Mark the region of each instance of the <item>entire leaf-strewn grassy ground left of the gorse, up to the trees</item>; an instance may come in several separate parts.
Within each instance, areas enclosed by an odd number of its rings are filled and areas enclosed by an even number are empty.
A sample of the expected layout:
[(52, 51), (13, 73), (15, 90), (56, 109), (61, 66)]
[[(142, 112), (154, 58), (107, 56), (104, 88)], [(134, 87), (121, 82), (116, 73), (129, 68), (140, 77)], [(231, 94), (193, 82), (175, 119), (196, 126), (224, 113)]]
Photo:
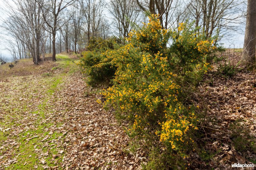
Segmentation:
[(0, 169), (138, 169), (129, 138), (77, 58), (0, 66)]

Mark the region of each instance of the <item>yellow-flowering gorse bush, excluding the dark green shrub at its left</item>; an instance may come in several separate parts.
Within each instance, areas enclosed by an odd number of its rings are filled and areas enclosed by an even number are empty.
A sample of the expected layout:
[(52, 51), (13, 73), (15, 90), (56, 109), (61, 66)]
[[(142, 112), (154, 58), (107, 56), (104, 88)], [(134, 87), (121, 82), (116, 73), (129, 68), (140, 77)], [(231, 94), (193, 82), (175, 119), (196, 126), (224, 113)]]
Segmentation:
[(210, 69), (207, 56), (215, 47), (185, 23), (177, 31), (163, 29), (157, 17), (149, 16), (125, 46), (102, 52), (91, 67), (116, 68), (112, 86), (102, 92), (103, 105), (132, 122), (130, 134), (154, 134), (169, 151), (181, 153), (197, 129), (195, 109), (182, 98), (183, 82), (198, 81)]

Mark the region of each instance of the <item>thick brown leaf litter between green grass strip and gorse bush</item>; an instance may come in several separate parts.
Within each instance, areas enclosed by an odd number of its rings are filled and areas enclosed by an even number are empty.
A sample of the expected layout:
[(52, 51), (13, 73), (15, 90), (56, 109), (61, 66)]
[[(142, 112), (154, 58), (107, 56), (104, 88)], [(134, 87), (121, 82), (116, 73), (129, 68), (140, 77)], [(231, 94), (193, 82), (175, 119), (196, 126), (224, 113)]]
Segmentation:
[(67, 108), (64, 127), (69, 132), (64, 140), (67, 151), (63, 167), (89, 169), (138, 169), (140, 159), (123, 152), (129, 138), (112, 112), (96, 102), (100, 96), (90, 94), (81, 75), (73, 75), (68, 85), (57, 94), (62, 99), (56, 107)]

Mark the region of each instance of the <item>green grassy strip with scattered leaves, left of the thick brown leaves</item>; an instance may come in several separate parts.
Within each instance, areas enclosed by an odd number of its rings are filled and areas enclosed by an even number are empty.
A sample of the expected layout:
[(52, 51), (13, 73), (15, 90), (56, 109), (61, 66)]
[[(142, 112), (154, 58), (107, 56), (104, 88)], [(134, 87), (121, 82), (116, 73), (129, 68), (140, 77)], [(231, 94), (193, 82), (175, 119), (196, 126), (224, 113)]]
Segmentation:
[(52, 107), (77, 67), (67, 55), (57, 59), (51, 72), (0, 81), (0, 164), (6, 169), (60, 166), (67, 131), (59, 130), (63, 120)]

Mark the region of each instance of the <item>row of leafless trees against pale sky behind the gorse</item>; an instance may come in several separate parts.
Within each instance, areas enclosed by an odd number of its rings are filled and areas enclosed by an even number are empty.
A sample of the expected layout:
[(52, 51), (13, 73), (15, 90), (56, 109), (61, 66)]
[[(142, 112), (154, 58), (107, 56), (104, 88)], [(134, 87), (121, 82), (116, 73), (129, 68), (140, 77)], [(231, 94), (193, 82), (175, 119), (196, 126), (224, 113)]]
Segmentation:
[(216, 45), (241, 30), (245, 9), (245, 0), (4, 0), (1, 26), (13, 59), (33, 57), (36, 64), (45, 53), (55, 61), (56, 53), (84, 51), (92, 37), (124, 42), (136, 24), (148, 22), (146, 11), (159, 14), (165, 29), (193, 22), (206, 37), (215, 36)]

